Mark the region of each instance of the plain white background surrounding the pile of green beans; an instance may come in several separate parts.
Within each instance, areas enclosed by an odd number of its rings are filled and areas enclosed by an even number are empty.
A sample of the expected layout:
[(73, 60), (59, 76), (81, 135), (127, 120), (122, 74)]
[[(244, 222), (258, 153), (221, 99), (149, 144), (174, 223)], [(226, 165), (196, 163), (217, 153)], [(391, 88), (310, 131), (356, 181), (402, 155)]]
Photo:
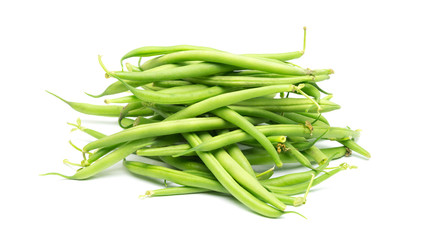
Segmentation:
[[(423, 1), (14, 1), (2, 2), (1, 239), (426, 239), (426, 7)], [(333, 68), (321, 86), (342, 109), (335, 126), (362, 129), (370, 160), (320, 185), (306, 205), (263, 218), (220, 195), (139, 200), (162, 187), (118, 164), (87, 181), (40, 177), (72, 174), (68, 145), (91, 140), (66, 122), (113, 128), (113, 120), (74, 112), (44, 92), (98, 103), (104, 79), (127, 51), (145, 45), (193, 44), (234, 53), (307, 49), (297, 64)], [(98, 122), (95, 119), (100, 119)], [(290, 208), (292, 209), (292, 208)], [(294, 209), (293, 209), (294, 210)], [(245, 238), (244, 238), (245, 237)]]

